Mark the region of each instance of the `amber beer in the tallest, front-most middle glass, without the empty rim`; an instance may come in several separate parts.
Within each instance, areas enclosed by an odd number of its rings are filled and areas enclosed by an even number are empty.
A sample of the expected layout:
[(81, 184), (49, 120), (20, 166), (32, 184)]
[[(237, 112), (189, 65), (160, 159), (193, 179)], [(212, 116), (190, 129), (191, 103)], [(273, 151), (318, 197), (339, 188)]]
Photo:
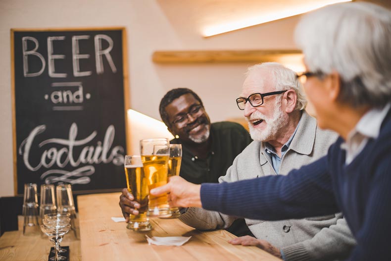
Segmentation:
[[(167, 184), (168, 159), (168, 155), (141, 156), (149, 190)], [(148, 215), (159, 217), (171, 216), (167, 194), (159, 197), (149, 195)]]

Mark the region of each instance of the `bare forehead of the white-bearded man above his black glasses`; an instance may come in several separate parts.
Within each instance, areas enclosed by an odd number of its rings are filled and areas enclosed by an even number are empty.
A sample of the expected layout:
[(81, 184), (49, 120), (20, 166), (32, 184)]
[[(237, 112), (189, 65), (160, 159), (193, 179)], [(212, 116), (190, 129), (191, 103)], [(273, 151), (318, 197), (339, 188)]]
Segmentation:
[(268, 93), (275, 90), (272, 75), (264, 70), (250, 72), (244, 80), (240, 97), (254, 93)]

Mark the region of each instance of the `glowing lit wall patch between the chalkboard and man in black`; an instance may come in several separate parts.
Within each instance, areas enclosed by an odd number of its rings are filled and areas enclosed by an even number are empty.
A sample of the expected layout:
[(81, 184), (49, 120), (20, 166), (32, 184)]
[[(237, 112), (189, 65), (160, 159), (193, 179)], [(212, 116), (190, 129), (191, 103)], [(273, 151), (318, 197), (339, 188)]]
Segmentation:
[(127, 136), (131, 141), (131, 148), (128, 148), (128, 154), (140, 154), (139, 142), (142, 139), (168, 138), (171, 140), (174, 138), (162, 121), (151, 118), (133, 109), (128, 109), (127, 113)]

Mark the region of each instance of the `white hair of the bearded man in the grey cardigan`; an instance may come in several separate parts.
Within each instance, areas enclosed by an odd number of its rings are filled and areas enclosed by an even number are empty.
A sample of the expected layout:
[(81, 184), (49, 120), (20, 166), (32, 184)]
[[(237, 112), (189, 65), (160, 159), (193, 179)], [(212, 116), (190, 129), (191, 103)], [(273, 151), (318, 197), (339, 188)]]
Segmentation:
[(307, 99), (305, 98), (305, 93), (303, 86), (296, 77), (296, 73), (285, 67), (284, 65), (278, 62), (264, 62), (255, 64), (247, 69), (245, 73), (248, 76), (251, 72), (268, 70), (272, 74), (272, 79), (274, 81), (274, 87), (276, 91), (283, 91), (293, 89), (296, 93), (297, 100), (296, 106), (294, 109), (302, 110), (307, 106)]

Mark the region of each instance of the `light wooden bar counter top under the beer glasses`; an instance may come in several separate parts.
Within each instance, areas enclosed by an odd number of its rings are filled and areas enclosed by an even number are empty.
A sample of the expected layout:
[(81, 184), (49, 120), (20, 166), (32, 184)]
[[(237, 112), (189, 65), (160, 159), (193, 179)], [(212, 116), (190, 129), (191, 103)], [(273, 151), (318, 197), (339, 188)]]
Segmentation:
[[(235, 236), (225, 230), (198, 231), (178, 219), (152, 218), (153, 229), (134, 232), (125, 222), (118, 206), (120, 193), (78, 196), (81, 256), (83, 261), (278, 261), (256, 248), (233, 246)], [(192, 236), (183, 246), (148, 245), (149, 237)]]

